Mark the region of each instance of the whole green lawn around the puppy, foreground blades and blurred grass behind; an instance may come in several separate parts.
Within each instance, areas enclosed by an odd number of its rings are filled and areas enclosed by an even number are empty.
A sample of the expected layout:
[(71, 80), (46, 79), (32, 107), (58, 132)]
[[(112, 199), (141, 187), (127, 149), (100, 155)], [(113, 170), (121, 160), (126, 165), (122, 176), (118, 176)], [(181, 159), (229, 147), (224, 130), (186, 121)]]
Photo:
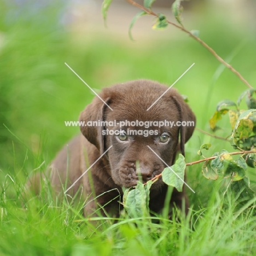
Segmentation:
[[(188, 168), (188, 183), (196, 193), (188, 190), (191, 212), (187, 218), (180, 214), (179, 221), (159, 216), (155, 224), (124, 214), (118, 220), (100, 218), (95, 227), (81, 214), (83, 202), (56, 202), (50, 190), (23, 206), (27, 176), (43, 171), (79, 132), (64, 121), (77, 120), (94, 97), (64, 62), (96, 89), (138, 78), (171, 85), (195, 62), (175, 87), (188, 96), (197, 127), (206, 131), (216, 104), (224, 98), (235, 101), (246, 89), (226, 69), (216, 79), (219, 63), (184, 34), (173, 37), (174, 28), (161, 32), (170, 37), (158, 38), (155, 32), (150, 41), (127, 38), (124, 43), (124, 38), (68, 29), (61, 22), (65, 10), (57, 4), (14, 8), (0, 3), (0, 255), (256, 255), (254, 202), (236, 207), (236, 195), (228, 190), (223, 196), (224, 185), (203, 178), (199, 165)], [(229, 25), (221, 12), (206, 8), (202, 13), (191, 28), (199, 28), (201, 38), (224, 58), (231, 57), (254, 85), (253, 33)], [(229, 121), (221, 125), (217, 135), (228, 136)], [(212, 143), (208, 155), (234, 150), (196, 131), (187, 144), (187, 162), (200, 158), (196, 152), (202, 143)], [(254, 173), (249, 171), (253, 188)]]

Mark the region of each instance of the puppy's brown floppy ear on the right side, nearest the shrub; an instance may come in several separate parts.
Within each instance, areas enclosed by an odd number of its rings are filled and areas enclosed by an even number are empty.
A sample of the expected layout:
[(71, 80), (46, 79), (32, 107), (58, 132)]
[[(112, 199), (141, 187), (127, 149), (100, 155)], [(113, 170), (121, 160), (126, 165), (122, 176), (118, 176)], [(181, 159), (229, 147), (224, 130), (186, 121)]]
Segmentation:
[(184, 99), (181, 95), (174, 95), (172, 96), (181, 117), (181, 122), (186, 121), (186, 126), (179, 127), (179, 133), (181, 136), (180, 148), (181, 153), (185, 156), (185, 143), (189, 140), (195, 130), (196, 124), (196, 117), (195, 114), (192, 112), (191, 108), (188, 106), (187, 103), (184, 102)]

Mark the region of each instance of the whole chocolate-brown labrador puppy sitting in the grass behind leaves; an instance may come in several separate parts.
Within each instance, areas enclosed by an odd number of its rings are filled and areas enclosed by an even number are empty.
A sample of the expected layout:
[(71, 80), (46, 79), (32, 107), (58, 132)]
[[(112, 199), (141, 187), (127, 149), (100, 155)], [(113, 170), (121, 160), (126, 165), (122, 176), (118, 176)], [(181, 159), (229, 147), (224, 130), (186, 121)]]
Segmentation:
[[(178, 125), (184, 125), (184, 121), (195, 124), (195, 115), (175, 89), (167, 89), (150, 80), (117, 84), (104, 88), (100, 97), (95, 97), (80, 114), (82, 135), (72, 139), (56, 156), (50, 166), (50, 177), (60, 193), (73, 184), (66, 191), (72, 196), (82, 187), (85, 216), (98, 207), (118, 216), (122, 188), (135, 186), (139, 178), (147, 182), (160, 174), (166, 165), (158, 156), (171, 166), (178, 150), (184, 155), (184, 144), (194, 126)], [(172, 127), (167, 121), (172, 122)], [(152, 212), (162, 210), (166, 191), (167, 185), (161, 178), (152, 185)], [(183, 198), (188, 208), (184, 189), (182, 193), (174, 189), (170, 205), (181, 207)]]

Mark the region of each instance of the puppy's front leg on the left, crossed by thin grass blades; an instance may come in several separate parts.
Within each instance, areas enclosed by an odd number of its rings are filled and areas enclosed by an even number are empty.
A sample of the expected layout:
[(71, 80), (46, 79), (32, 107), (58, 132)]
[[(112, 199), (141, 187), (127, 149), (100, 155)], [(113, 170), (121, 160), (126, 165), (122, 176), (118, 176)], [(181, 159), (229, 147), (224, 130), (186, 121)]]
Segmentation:
[(82, 184), (86, 217), (119, 216), (122, 189), (113, 182), (109, 162), (94, 145), (81, 138)]

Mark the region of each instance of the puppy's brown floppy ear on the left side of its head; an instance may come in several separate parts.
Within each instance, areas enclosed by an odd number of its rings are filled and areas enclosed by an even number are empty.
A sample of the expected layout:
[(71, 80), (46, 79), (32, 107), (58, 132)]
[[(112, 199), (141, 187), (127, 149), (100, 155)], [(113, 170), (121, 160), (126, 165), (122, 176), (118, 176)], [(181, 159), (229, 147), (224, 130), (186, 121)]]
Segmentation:
[[(107, 98), (105, 102), (110, 103), (110, 98)], [(83, 121), (84, 125), (80, 125), (80, 131), (88, 141), (96, 146), (102, 155), (104, 153), (104, 136), (102, 131), (103, 126), (93, 126), (94, 121), (104, 121), (104, 113), (108, 106), (104, 104), (98, 97), (95, 97), (91, 104), (89, 104), (83, 112), (80, 113), (79, 121)], [(88, 126), (88, 121), (91, 123)]]

